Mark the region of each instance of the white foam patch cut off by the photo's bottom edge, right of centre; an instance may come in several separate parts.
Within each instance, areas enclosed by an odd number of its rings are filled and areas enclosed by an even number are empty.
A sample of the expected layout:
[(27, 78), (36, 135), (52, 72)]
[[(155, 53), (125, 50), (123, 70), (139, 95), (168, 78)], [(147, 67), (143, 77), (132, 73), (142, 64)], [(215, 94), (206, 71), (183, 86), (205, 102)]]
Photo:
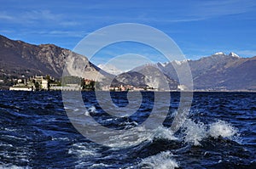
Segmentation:
[(139, 168), (154, 169), (172, 169), (178, 167), (177, 162), (172, 159), (170, 151), (161, 152), (160, 154), (149, 156), (138, 164)]

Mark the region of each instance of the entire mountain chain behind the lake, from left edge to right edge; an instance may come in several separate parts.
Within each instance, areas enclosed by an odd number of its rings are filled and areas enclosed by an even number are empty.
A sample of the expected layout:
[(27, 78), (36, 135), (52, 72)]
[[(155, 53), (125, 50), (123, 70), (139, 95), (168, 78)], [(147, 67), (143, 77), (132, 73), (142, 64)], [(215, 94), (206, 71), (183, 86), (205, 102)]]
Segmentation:
[[(166, 88), (164, 84), (167, 82), (170, 89), (176, 90), (179, 85), (176, 70), (183, 70), (186, 63), (190, 66), (196, 90), (256, 90), (256, 56), (241, 58), (234, 53), (217, 53), (198, 60), (143, 65), (115, 76), (113, 85)], [(66, 64), (66, 73), (69, 75), (79, 75), (99, 82), (114, 78), (114, 75), (93, 65), (86, 57), (68, 49), (53, 44), (32, 45), (0, 36), (2, 83), (34, 75), (61, 78)]]

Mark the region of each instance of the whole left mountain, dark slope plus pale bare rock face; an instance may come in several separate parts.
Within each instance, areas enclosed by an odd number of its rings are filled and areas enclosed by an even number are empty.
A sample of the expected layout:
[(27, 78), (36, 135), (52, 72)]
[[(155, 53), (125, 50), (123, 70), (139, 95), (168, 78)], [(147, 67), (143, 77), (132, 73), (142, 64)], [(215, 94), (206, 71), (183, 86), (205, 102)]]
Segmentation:
[(4, 81), (35, 75), (60, 79), (65, 65), (67, 75), (98, 80), (111, 76), (68, 49), (53, 44), (32, 45), (0, 36), (0, 79)]

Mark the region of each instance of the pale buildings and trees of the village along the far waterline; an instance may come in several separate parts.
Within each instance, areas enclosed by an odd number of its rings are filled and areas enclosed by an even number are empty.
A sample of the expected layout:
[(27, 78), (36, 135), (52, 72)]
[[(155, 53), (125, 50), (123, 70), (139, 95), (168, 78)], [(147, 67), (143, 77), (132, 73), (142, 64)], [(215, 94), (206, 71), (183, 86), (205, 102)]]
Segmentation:
[[(61, 82), (62, 81), (62, 82)], [(110, 87), (100, 87), (99, 83), (76, 76), (66, 76), (57, 80), (52, 76), (32, 76), (28, 79), (17, 79), (15, 85), (9, 87), (11, 91), (94, 91), (95, 88), (102, 91), (143, 91), (151, 90), (153, 87), (133, 87), (131, 85), (119, 85)]]

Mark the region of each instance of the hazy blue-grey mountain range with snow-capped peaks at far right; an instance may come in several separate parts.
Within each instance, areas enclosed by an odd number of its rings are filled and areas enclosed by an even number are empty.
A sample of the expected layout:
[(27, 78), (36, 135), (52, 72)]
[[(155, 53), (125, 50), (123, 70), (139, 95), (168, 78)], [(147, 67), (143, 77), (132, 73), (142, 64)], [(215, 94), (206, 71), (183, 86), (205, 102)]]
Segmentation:
[(235, 53), (222, 52), (198, 60), (172, 61), (157, 66), (167, 76), (178, 82), (177, 70), (187, 62), (197, 90), (255, 90), (256, 56), (241, 58)]

